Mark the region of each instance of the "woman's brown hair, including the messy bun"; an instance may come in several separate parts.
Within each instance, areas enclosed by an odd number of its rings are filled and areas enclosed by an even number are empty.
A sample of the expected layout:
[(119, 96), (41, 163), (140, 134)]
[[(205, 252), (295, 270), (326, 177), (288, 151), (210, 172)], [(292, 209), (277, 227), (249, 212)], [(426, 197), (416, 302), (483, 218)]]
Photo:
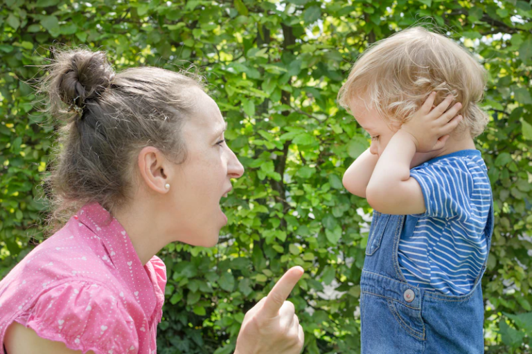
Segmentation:
[(103, 51), (54, 52), (39, 91), (46, 94), (45, 111), (67, 122), (45, 180), (49, 222), (57, 228), (85, 203), (98, 202), (111, 213), (121, 207), (143, 147), (183, 162), (181, 127), (194, 111), (194, 88), (203, 85), (197, 76), (155, 67), (115, 73)]

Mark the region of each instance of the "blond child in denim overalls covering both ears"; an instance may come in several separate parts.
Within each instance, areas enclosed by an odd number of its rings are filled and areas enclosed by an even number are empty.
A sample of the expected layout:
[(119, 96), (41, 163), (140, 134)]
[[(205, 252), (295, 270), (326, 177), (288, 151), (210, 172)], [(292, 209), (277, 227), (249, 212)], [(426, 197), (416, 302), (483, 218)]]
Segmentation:
[(484, 353), (493, 198), (473, 142), (488, 122), (484, 86), (484, 69), (463, 48), (410, 28), (364, 53), (340, 90), (371, 135), (344, 175), (374, 209), (362, 353)]

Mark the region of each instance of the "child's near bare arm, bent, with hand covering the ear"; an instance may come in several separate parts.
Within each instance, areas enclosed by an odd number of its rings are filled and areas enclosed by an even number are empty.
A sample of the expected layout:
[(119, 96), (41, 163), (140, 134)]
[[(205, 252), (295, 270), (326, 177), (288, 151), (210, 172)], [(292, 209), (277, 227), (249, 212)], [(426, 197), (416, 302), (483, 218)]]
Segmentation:
[(425, 200), (419, 183), (410, 177), (410, 162), (416, 151), (441, 149), (459, 124), (455, 116), (461, 104), (445, 109), (452, 102), (447, 97), (432, 111), (435, 94), (429, 95), (409, 122), (393, 135), (381, 154), (366, 189), (366, 198), (373, 209), (383, 214), (423, 214)]

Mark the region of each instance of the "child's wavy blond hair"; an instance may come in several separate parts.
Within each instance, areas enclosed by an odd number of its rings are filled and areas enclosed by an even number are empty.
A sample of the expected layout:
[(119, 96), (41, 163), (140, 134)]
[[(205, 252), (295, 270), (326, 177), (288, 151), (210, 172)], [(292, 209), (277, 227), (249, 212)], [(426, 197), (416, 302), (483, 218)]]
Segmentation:
[(443, 35), (414, 27), (368, 48), (340, 88), (338, 102), (347, 108), (358, 95), (385, 122), (402, 123), (432, 91), (437, 93), (435, 104), (453, 95), (462, 104), (459, 130), (469, 128), (475, 138), (489, 121), (479, 107), (484, 86), (486, 70), (471, 53)]

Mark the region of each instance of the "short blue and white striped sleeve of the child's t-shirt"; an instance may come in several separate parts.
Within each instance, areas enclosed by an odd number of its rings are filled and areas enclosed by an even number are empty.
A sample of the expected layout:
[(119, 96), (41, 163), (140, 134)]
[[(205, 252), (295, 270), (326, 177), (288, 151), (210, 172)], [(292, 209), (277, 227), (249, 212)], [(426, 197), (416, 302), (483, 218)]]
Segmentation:
[(425, 213), (416, 217), (457, 218), (467, 221), (475, 218), (471, 205), (475, 181), (464, 162), (454, 160), (442, 164), (411, 169), (410, 176), (418, 181), (423, 198)]

